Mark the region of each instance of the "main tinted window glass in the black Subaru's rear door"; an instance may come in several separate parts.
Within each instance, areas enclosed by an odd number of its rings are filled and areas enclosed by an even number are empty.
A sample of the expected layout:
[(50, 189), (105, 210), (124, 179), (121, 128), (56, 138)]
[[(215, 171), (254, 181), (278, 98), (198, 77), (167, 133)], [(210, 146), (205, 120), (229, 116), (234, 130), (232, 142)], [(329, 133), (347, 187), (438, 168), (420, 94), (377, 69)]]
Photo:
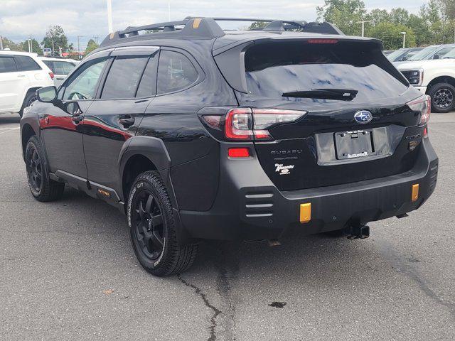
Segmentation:
[(101, 98), (134, 98), (148, 60), (149, 57), (117, 57), (107, 75)]

